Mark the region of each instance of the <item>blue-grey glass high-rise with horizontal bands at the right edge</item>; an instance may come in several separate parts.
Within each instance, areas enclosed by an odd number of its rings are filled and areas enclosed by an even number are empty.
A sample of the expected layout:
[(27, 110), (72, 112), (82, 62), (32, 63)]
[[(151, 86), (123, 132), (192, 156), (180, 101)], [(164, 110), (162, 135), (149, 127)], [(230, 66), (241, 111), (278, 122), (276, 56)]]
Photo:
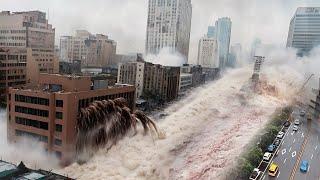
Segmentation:
[(307, 55), (320, 45), (320, 7), (299, 7), (290, 21), (287, 47), (298, 49), (298, 55)]

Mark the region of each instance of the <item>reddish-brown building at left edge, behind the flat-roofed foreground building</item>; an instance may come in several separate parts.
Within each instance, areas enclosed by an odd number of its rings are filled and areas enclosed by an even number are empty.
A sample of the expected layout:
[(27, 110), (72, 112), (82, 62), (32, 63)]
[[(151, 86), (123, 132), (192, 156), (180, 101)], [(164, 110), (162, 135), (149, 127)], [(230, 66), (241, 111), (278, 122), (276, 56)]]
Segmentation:
[(26, 84), (26, 61), (26, 49), (0, 48), (0, 103), (6, 101), (9, 87)]

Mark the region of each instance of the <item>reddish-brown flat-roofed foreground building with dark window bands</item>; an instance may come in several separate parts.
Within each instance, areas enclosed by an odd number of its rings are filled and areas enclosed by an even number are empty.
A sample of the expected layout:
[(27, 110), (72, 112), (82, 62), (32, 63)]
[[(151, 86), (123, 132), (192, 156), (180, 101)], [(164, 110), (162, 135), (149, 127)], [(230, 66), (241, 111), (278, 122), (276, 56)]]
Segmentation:
[(36, 87), (9, 89), (8, 140), (15, 143), (22, 136), (32, 137), (55, 153), (62, 164), (69, 164), (75, 157), (79, 110), (95, 100), (118, 97), (135, 108), (134, 86), (104, 88), (93, 84), (91, 77), (41, 74)]

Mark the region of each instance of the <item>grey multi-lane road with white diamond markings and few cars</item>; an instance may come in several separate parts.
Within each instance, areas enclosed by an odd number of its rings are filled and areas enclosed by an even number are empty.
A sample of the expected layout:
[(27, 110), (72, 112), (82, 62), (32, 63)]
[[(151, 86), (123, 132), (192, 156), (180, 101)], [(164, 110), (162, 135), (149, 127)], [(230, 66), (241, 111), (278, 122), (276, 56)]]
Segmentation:
[[(266, 175), (265, 179), (319, 180), (320, 123), (316, 121), (308, 122), (306, 116), (300, 117), (298, 109), (295, 109), (292, 117), (293, 120), (300, 119), (299, 130), (293, 132), (293, 123), (291, 124), (278, 154), (272, 160), (279, 165), (279, 172), (275, 178)], [(302, 160), (309, 162), (307, 173), (300, 172)]]

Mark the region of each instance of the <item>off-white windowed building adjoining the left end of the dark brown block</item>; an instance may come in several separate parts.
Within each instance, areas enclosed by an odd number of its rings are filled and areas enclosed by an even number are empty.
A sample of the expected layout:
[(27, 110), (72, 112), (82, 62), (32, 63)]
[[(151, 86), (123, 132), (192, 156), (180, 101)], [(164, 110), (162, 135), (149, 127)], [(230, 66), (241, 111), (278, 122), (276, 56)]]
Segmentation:
[(143, 93), (144, 62), (120, 63), (118, 67), (118, 83), (131, 84), (136, 87), (136, 96)]

